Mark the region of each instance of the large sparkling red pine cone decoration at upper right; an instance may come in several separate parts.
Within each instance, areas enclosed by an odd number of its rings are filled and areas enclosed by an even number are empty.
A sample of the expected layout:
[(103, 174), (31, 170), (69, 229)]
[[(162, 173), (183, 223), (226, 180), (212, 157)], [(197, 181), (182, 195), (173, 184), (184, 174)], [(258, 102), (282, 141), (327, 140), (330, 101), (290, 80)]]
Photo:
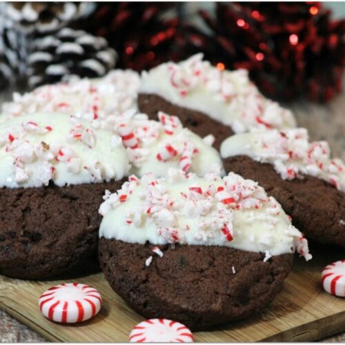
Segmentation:
[(211, 34), (185, 26), (180, 50), (215, 66), (246, 68), (268, 97), (329, 101), (342, 90), (345, 20), (322, 3), (217, 3), (200, 12)]

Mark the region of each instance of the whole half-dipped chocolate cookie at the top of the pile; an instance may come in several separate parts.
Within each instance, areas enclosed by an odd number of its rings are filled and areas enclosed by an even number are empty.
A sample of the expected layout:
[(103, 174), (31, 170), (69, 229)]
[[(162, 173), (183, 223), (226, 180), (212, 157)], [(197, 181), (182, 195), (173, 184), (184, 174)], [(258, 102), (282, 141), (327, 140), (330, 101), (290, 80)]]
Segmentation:
[(202, 54), (142, 72), (138, 105), (152, 119), (161, 110), (201, 137), (214, 135), (216, 148), (232, 132), (295, 126), (293, 114), (264, 98), (246, 70), (219, 70)]

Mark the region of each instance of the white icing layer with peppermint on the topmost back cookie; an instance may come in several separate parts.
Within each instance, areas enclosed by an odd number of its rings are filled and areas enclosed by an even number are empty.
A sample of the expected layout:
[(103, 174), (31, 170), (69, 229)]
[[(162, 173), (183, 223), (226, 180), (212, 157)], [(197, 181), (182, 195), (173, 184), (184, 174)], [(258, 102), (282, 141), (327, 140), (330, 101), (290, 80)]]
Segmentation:
[(177, 106), (206, 113), (235, 132), (290, 128), (290, 110), (264, 98), (246, 70), (218, 70), (203, 55), (180, 63), (163, 63), (141, 75), (139, 92), (155, 94)]

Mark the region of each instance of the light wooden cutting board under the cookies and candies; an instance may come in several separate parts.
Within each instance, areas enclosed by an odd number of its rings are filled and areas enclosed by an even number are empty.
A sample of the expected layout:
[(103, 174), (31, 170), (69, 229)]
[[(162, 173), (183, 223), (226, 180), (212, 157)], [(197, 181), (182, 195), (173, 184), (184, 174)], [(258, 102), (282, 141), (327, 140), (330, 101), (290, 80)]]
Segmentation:
[[(312, 248), (314, 259), (297, 258), (284, 289), (264, 311), (242, 322), (195, 333), (196, 342), (304, 342), (345, 330), (345, 299), (322, 290), (321, 270), (326, 264), (344, 259), (344, 249)], [(52, 342), (127, 342), (135, 324), (143, 318), (132, 311), (110, 288), (101, 273), (77, 281), (98, 288), (103, 307), (95, 317), (82, 324), (63, 326), (48, 321), (38, 309), (38, 300), (58, 282), (26, 282), (0, 276), (0, 308), (19, 319)]]

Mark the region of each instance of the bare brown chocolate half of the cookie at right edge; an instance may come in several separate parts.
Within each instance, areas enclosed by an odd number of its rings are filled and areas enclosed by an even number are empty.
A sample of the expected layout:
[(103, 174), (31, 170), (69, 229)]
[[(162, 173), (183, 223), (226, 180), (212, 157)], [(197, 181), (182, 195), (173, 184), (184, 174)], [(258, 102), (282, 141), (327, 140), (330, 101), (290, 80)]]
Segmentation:
[(303, 179), (282, 179), (273, 165), (244, 155), (224, 159), (224, 167), (226, 172), (257, 181), (279, 201), (293, 218), (294, 226), (307, 238), (345, 248), (345, 195), (335, 186), (308, 175)]

